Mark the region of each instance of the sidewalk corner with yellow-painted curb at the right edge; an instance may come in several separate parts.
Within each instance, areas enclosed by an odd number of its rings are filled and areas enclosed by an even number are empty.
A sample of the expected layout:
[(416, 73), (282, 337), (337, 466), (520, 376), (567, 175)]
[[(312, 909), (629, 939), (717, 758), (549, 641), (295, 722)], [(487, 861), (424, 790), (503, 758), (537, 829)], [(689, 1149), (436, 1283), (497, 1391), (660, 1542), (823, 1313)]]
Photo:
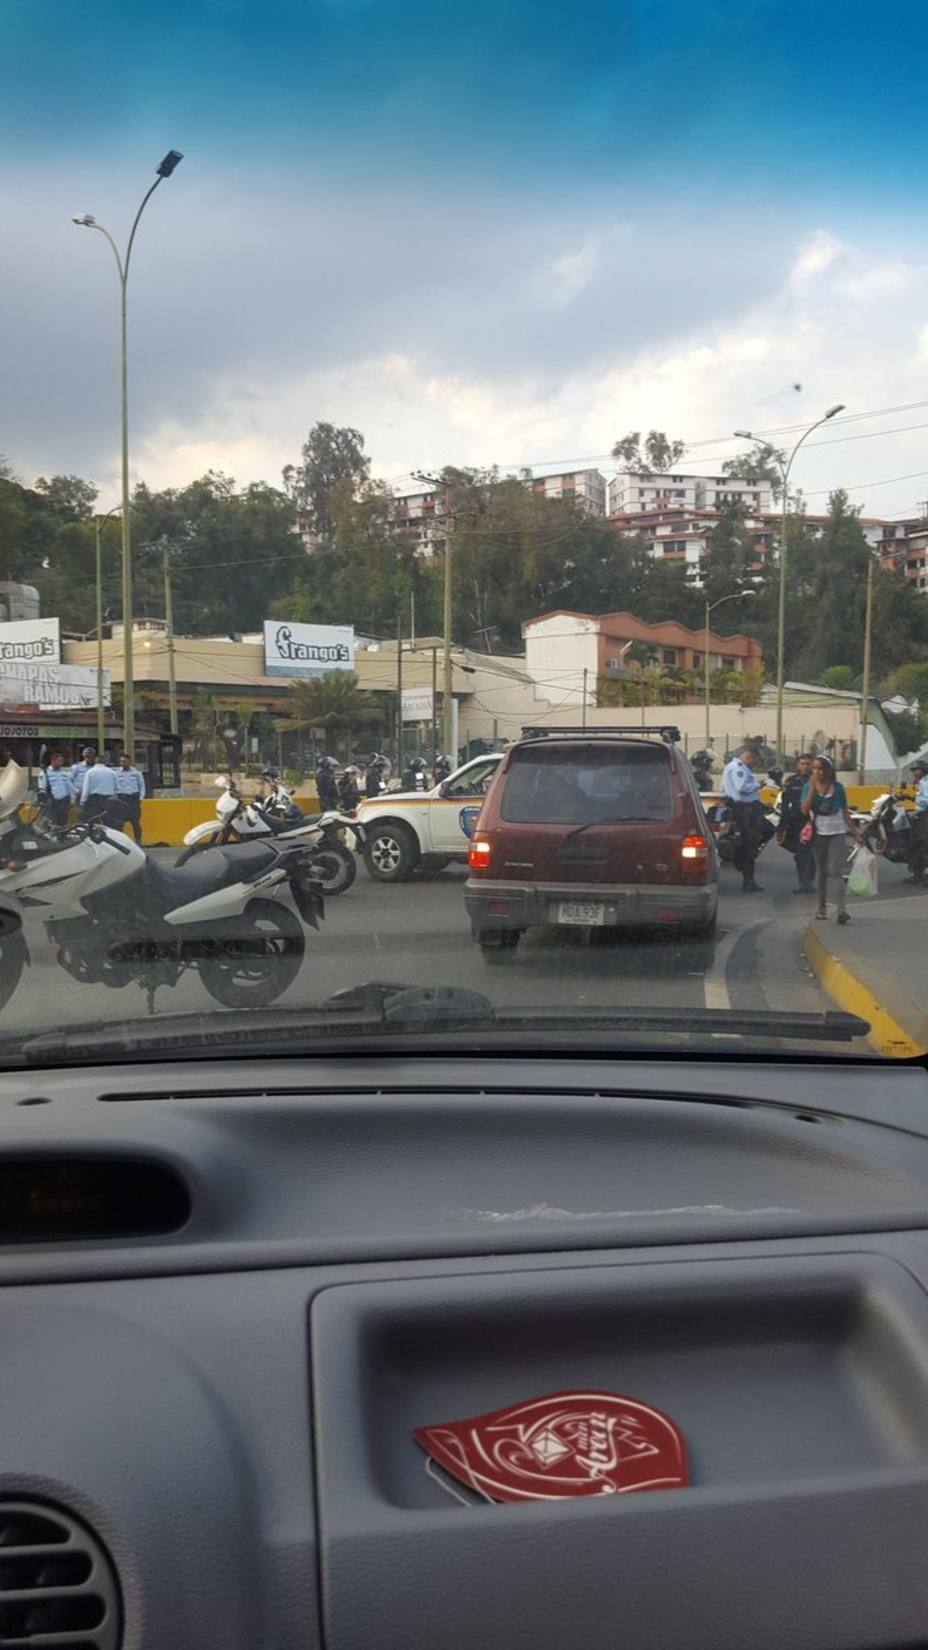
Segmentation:
[(907, 899), (847, 901), (850, 924), (809, 922), (804, 950), (824, 992), (870, 1021), (880, 1054), (928, 1053), (928, 888)]

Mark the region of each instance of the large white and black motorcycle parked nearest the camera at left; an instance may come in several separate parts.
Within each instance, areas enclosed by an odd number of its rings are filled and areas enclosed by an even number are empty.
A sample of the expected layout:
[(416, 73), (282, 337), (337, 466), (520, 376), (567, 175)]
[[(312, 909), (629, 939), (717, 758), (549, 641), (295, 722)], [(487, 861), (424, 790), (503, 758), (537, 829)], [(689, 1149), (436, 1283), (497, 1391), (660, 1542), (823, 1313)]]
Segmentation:
[(26, 784), (17, 762), (0, 774), (0, 1006), (28, 962), (26, 912), (45, 922), (74, 980), (135, 982), (149, 1006), (157, 987), (177, 985), (187, 969), (226, 1008), (266, 1006), (292, 985), (302, 922), (319, 927), (324, 916), (305, 846), (254, 842), (159, 865), (106, 825), (23, 823)]

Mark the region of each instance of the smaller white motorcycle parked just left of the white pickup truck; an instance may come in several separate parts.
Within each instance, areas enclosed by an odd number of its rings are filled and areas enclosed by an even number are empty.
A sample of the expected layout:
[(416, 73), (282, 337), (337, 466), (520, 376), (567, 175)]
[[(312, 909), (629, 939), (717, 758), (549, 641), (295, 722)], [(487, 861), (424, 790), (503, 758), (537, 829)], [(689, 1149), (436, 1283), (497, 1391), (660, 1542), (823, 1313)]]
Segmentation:
[[(183, 838), (178, 865), (203, 848), (256, 837), (276, 837), (282, 843), (302, 843), (312, 850), (322, 879), (322, 893), (343, 894), (357, 876), (355, 850), (363, 848), (363, 827), (347, 813), (301, 813), (286, 785), (277, 784), (271, 797), (243, 797), (231, 776), (216, 779), (223, 792), (216, 802), (216, 822), (193, 825)], [(345, 840), (342, 842), (342, 833)]]

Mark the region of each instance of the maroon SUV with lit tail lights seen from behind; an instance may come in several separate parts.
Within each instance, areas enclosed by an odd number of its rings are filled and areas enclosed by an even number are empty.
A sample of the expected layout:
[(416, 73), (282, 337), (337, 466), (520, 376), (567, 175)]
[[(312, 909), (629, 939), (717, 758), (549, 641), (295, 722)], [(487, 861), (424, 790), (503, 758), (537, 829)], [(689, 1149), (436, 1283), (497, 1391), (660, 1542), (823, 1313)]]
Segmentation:
[[(469, 853), (474, 939), (507, 962), (530, 927), (664, 929), (712, 954), (718, 860), (674, 744), (548, 734), (500, 762)], [(708, 960), (708, 957), (700, 959)]]

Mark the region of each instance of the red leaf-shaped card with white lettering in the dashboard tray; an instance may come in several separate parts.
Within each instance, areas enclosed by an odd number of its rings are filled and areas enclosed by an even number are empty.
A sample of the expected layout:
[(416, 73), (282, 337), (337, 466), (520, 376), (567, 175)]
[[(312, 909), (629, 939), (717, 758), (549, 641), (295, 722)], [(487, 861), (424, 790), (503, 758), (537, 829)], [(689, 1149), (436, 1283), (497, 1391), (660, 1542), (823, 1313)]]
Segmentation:
[(416, 1444), (494, 1502), (679, 1490), (684, 1434), (652, 1404), (618, 1393), (550, 1393), (469, 1421), (416, 1427)]

